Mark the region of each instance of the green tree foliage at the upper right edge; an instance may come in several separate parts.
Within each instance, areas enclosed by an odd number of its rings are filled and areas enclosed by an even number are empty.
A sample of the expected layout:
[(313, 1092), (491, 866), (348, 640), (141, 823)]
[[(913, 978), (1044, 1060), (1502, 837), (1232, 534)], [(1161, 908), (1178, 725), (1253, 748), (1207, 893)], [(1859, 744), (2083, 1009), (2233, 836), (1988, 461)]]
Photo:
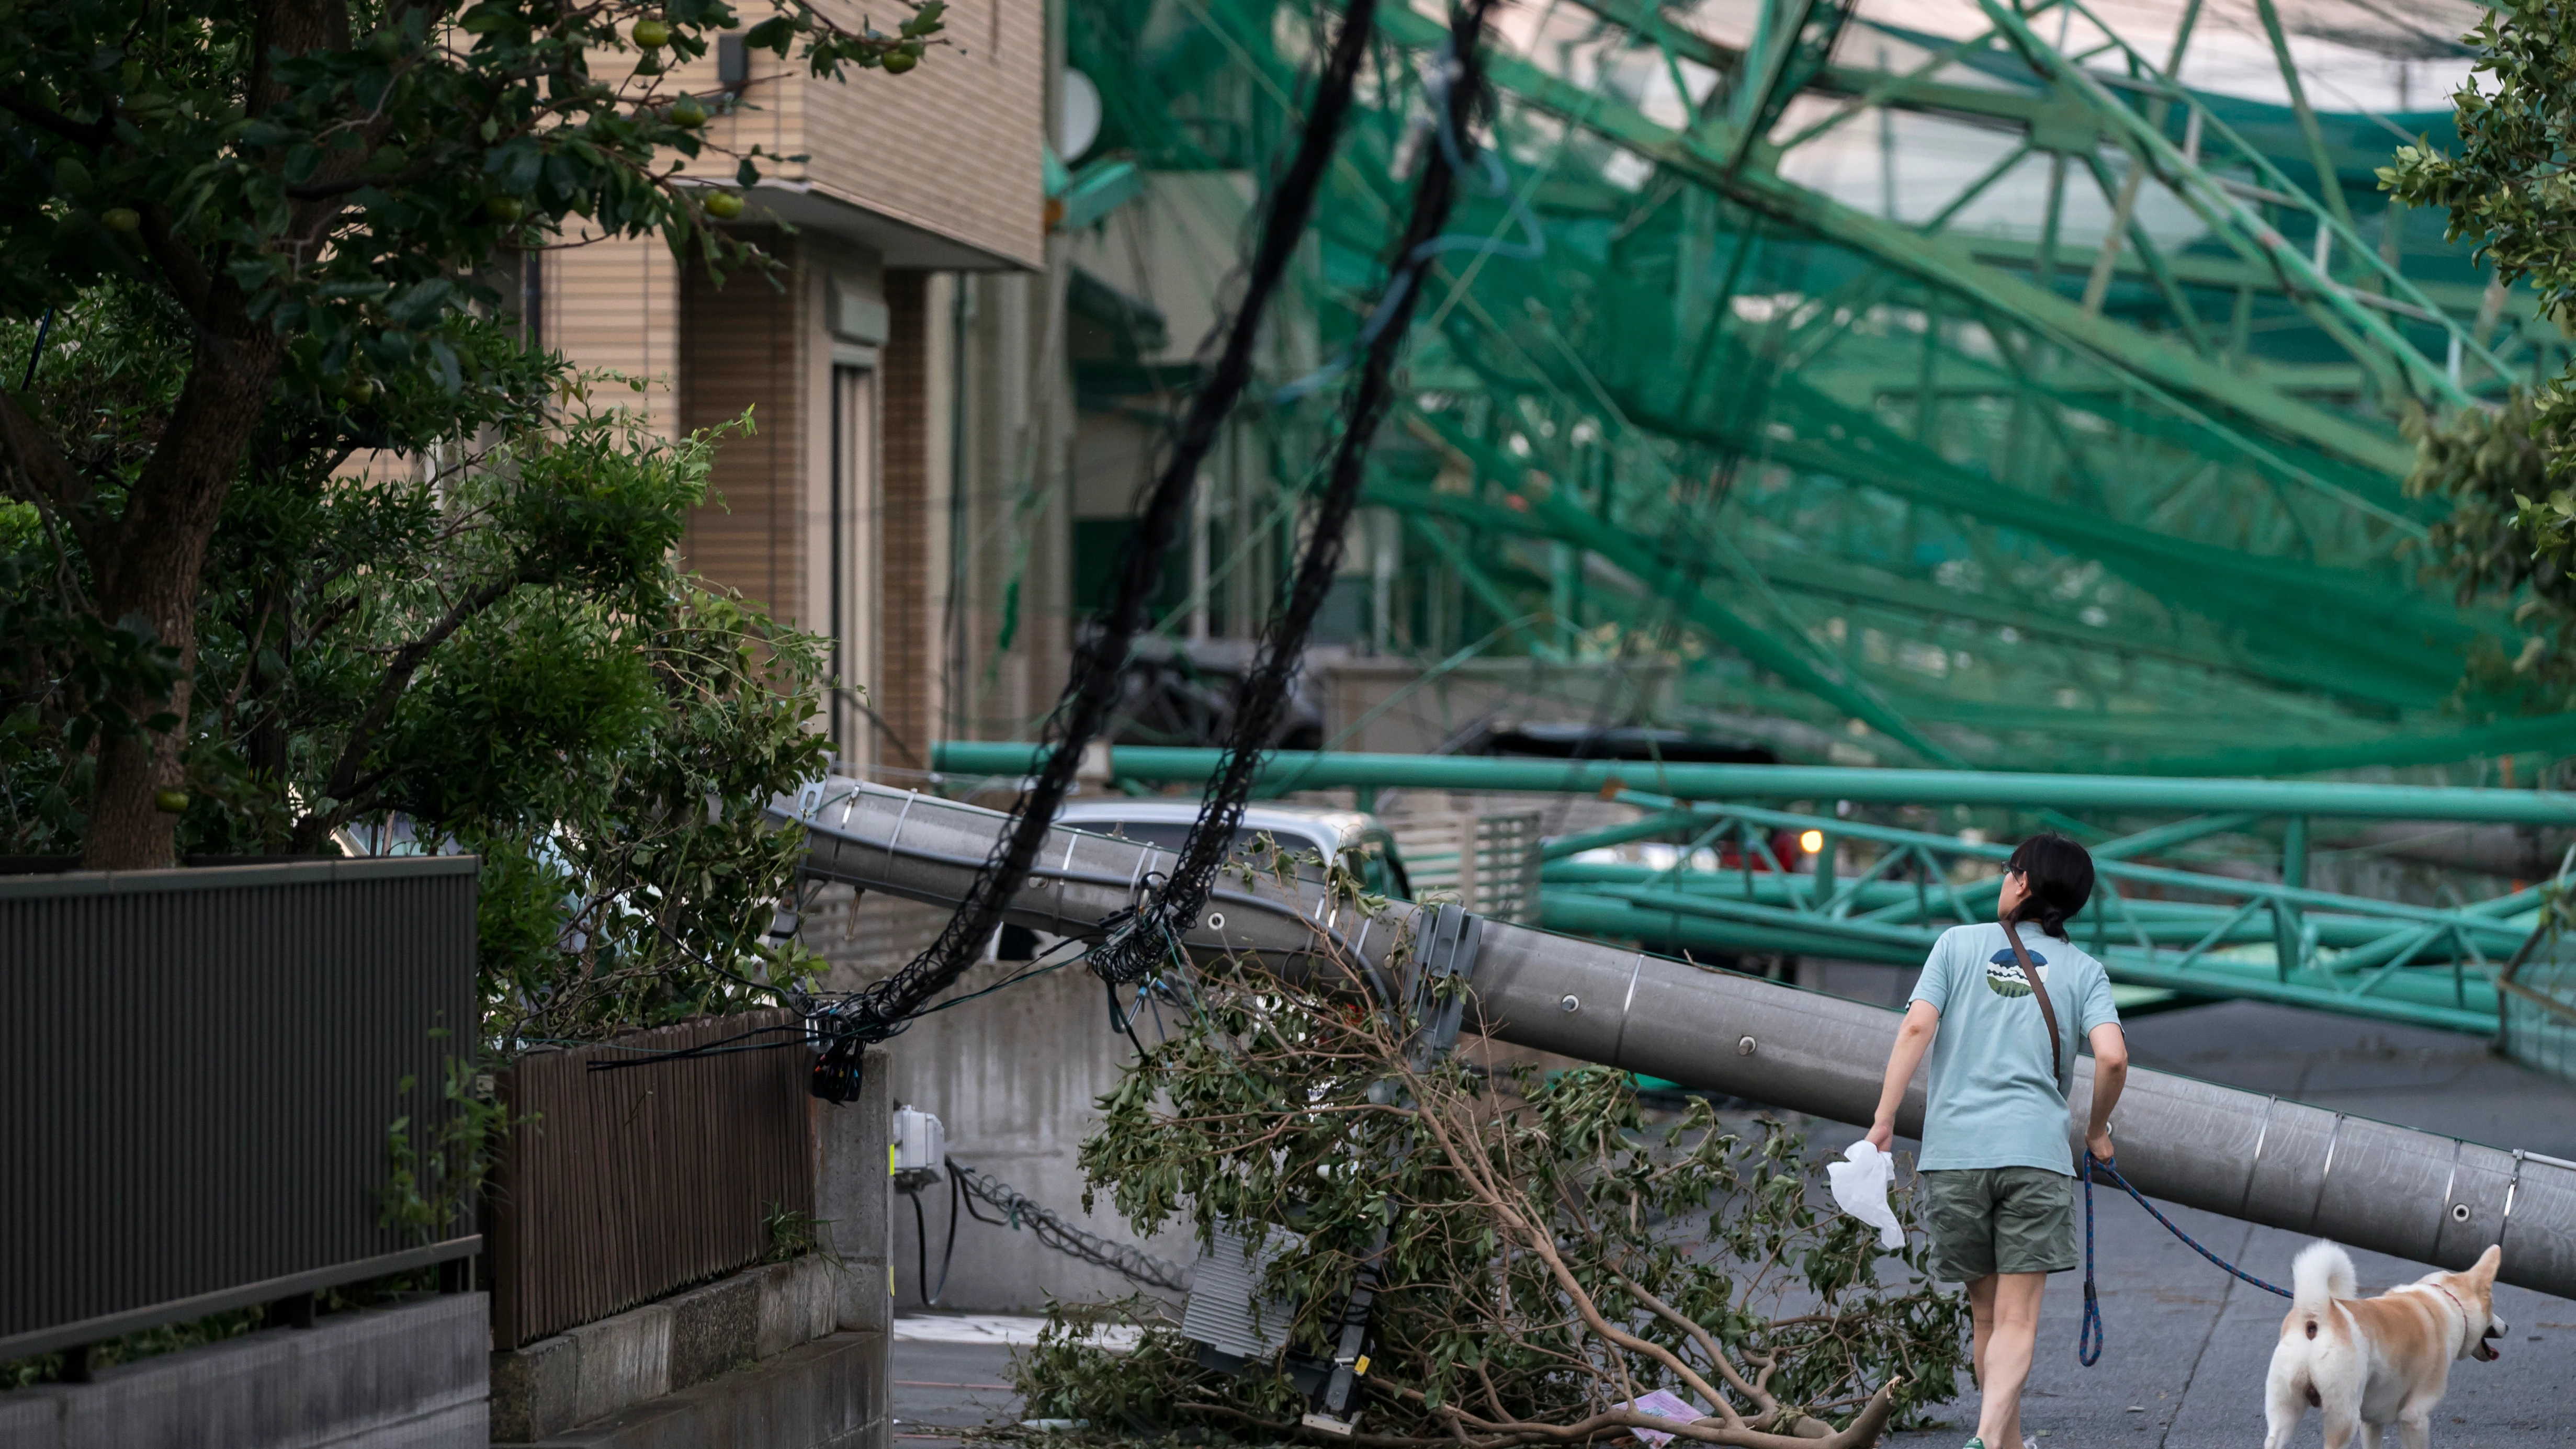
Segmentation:
[[(2452, 95), (2460, 154), (2398, 147), (2380, 167), (2396, 201), (2450, 214), (2450, 239), (2470, 237), (2501, 286), (2530, 283), (2540, 314), (2576, 327), (2576, 13), (2491, 10), (2463, 36), (2476, 46), (2470, 80)], [(2496, 597), (2514, 607), (2519, 641), (2470, 659), (2468, 692), (2524, 710), (2576, 710), (2576, 373), (2514, 386), (2496, 409), (2416, 417), (2419, 461), (2409, 494), (2442, 494), (2450, 517), (2432, 528), (2427, 569), (2460, 602)]]

